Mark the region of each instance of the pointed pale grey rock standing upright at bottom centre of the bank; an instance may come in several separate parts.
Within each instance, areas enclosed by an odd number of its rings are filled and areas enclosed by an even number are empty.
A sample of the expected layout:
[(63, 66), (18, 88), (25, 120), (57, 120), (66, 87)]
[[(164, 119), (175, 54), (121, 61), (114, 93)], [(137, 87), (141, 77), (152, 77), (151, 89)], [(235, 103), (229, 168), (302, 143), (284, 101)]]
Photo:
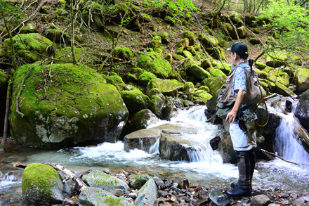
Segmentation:
[(153, 179), (148, 180), (140, 191), (138, 191), (138, 197), (136, 198), (134, 205), (155, 205), (158, 196), (158, 188)]

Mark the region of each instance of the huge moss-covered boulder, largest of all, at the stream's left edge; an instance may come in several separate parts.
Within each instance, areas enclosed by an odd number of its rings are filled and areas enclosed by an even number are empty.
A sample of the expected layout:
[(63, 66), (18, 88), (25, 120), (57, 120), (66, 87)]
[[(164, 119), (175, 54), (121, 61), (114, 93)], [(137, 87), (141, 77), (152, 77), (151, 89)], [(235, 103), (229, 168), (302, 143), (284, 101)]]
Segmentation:
[[(117, 89), (83, 65), (54, 64), (51, 76), (49, 71), (50, 65), (23, 65), (15, 72), (10, 115), (13, 138), (41, 148), (117, 141), (128, 118)], [(16, 98), (23, 117), (16, 112)]]

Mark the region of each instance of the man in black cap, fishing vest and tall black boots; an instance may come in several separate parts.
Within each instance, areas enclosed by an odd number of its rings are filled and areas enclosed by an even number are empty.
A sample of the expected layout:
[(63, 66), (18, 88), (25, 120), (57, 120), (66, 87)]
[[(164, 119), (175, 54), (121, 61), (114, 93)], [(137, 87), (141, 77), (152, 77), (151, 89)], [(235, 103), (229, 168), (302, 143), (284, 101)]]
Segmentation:
[[(218, 97), (218, 113), (224, 110), (225, 121), (230, 126), (230, 136), (237, 157), (239, 179), (232, 183), (225, 194), (232, 198), (240, 198), (252, 192), (251, 180), (256, 165), (256, 127), (257, 116), (254, 112), (261, 94), (251, 91), (252, 79), (256, 72), (252, 70), (252, 62), (247, 58), (248, 48), (243, 42), (237, 41), (231, 51), (232, 72), (221, 88)], [(251, 79), (252, 76), (252, 79)], [(221, 111), (220, 111), (221, 110)]]

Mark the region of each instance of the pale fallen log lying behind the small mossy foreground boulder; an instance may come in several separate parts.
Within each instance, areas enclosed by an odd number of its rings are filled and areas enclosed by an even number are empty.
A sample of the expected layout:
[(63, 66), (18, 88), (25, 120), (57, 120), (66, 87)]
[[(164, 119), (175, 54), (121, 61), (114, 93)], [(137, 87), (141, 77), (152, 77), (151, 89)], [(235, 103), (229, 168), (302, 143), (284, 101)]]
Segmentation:
[[(55, 163), (44, 162), (43, 164), (49, 165), (49, 166), (53, 167), (55, 170), (61, 171), (64, 174), (66, 174), (70, 179), (72, 179), (77, 184), (77, 188), (78, 188), (79, 192), (83, 191), (85, 188), (88, 188), (88, 186), (84, 183), (84, 181), (82, 181), (73, 172), (71, 172), (70, 169), (67, 169), (67, 168), (63, 167), (62, 165), (55, 164)], [(19, 167), (19, 168), (25, 169), (27, 167), (27, 165), (22, 164), (22, 163), (15, 163), (15, 164), (13, 164), (13, 167)]]

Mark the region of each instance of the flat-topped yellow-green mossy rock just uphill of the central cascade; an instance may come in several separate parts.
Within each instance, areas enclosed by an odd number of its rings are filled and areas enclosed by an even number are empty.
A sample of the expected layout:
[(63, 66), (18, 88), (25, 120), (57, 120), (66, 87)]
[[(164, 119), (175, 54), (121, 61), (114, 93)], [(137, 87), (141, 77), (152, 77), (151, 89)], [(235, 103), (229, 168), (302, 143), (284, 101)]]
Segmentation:
[(153, 88), (158, 89), (164, 96), (176, 96), (178, 92), (178, 84), (169, 79), (152, 79), (152, 81), (147, 84), (147, 91)]

